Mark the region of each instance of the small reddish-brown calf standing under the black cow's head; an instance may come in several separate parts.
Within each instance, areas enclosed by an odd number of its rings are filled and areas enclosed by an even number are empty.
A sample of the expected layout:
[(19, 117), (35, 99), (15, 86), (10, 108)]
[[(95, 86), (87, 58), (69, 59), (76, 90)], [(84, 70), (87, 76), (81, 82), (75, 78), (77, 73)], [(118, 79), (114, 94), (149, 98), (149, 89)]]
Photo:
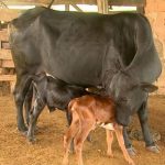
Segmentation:
[[(108, 144), (108, 156), (112, 155), (111, 143), (113, 140), (112, 132), (117, 134), (119, 145), (123, 152), (124, 158), (130, 165), (134, 165), (134, 162), (129, 156), (123, 141), (122, 125), (119, 125), (114, 119), (116, 106), (113, 101), (108, 97), (100, 96), (82, 96), (80, 98), (73, 99), (69, 102), (68, 110), (73, 114), (73, 121), (64, 135), (64, 147), (65, 155), (63, 165), (68, 165), (68, 153), (69, 145), (74, 139), (75, 152), (78, 160), (78, 165), (82, 163), (82, 144), (91, 130), (97, 125), (106, 128), (107, 132), (107, 144)], [(106, 124), (105, 124), (106, 123)], [(107, 128), (107, 123), (112, 123), (112, 130)]]

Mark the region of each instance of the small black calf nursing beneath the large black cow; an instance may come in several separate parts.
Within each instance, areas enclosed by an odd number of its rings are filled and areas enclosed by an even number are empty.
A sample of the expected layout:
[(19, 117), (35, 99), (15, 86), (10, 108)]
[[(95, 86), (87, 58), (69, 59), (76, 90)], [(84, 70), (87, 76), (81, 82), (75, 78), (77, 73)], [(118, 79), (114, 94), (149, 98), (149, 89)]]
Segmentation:
[(36, 121), (45, 106), (47, 106), (50, 111), (55, 109), (66, 111), (68, 124), (70, 124), (72, 116), (67, 111), (69, 101), (88, 94), (82, 87), (68, 85), (61, 79), (45, 74), (35, 75), (32, 85), (35, 90), (35, 97), (34, 105), (30, 111), (29, 141), (34, 141)]

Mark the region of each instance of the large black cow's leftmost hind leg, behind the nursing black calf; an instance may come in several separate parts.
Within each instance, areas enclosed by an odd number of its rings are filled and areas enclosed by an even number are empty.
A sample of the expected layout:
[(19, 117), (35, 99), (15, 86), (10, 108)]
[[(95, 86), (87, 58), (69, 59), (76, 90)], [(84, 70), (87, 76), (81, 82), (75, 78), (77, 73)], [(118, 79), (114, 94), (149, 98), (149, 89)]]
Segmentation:
[(15, 107), (16, 107), (18, 129), (21, 132), (26, 132), (26, 130), (28, 130), (28, 128), (24, 124), (23, 103), (24, 103), (25, 95), (31, 85), (31, 81), (32, 81), (32, 79), (28, 75), (23, 75), (20, 77), (18, 76), (14, 92), (13, 92)]

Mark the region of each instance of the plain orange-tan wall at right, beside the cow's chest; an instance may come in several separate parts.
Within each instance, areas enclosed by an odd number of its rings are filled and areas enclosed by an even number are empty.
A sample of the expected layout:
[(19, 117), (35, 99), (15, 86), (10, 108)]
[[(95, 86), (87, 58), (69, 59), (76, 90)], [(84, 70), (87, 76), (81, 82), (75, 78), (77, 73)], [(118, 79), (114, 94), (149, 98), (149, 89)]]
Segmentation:
[(145, 14), (148, 18), (163, 70), (157, 79), (158, 95), (165, 95), (165, 0), (146, 0)]

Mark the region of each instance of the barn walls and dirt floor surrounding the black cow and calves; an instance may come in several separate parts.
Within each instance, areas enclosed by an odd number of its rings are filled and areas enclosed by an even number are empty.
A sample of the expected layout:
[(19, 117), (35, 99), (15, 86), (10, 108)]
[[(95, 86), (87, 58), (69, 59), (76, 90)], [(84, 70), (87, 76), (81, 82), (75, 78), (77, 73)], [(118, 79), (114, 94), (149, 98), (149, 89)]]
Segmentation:
[[(50, 2), (51, 0), (0, 0), (0, 117), (3, 117), (1, 118), (3, 120), (0, 120), (0, 165), (58, 165), (62, 163), (62, 135), (66, 130), (66, 120), (63, 112), (57, 111), (55, 112), (56, 114), (50, 114), (44, 111), (38, 121), (38, 141), (34, 145), (29, 144), (25, 138), (18, 133), (12, 97), (16, 77), (9, 45), (8, 25), (6, 24), (18, 18), (25, 10), (37, 6), (47, 7)], [(102, 14), (129, 11), (146, 15), (151, 23), (156, 50), (163, 65), (162, 74), (155, 81), (158, 90), (150, 96), (148, 101), (150, 124), (155, 141), (161, 147), (161, 153), (146, 152), (142, 134), (139, 131), (140, 123), (135, 116), (130, 127), (130, 130), (134, 130), (134, 134), (131, 135), (133, 145), (138, 151), (138, 156), (133, 157), (133, 160), (136, 165), (164, 165), (165, 0), (54, 0), (52, 9), (70, 12), (99, 12)], [(117, 154), (117, 156), (114, 158), (106, 156), (106, 136), (102, 130), (98, 129), (92, 132), (92, 136), (94, 142), (87, 142), (84, 148), (87, 165), (127, 164), (121, 158), (122, 153), (117, 142), (114, 142), (113, 146), (114, 155)], [(70, 158), (72, 164), (75, 165), (74, 155)]]

